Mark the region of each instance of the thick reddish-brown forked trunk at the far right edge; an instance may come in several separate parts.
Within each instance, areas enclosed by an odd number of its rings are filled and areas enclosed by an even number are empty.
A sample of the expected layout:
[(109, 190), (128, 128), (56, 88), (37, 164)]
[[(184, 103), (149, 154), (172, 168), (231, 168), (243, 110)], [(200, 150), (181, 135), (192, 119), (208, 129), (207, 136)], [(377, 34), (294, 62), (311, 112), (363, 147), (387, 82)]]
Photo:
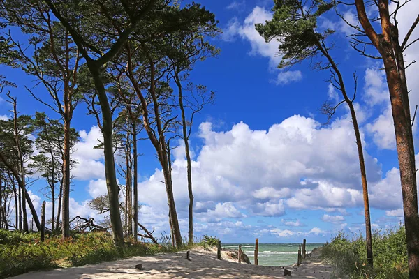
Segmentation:
[(411, 127), (409, 92), (404, 74), (403, 50), (399, 47), (398, 30), (390, 22), (388, 0), (378, 1), (382, 34), (372, 27), (363, 0), (355, 0), (358, 19), (365, 34), (383, 58), (390, 91), (392, 118), (395, 126), (400, 182), (402, 184), (404, 225), (409, 262), (409, 278), (419, 278), (419, 214), (416, 186), (415, 149)]

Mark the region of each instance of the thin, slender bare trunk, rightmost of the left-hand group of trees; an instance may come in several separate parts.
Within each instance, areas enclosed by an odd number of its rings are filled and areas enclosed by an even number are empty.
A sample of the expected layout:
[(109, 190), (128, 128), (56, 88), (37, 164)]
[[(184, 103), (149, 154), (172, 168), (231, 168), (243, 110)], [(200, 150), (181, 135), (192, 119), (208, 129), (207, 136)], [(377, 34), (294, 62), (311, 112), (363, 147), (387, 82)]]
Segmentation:
[(175, 80), (177, 83), (177, 88), (179, 89), (179, 107), (182, 112), (182, 130), (183, 130), (183, 139), (185, 144), (185, 154), (186, 154), (186, 170), (188, 174), (188, 193), (189, 193), (189, 236), (188, 236), (188, 244), (193, 244), (193, 192), (192, 192), (192, 168), (191, 168), (191, 154), (189, 153), (189, 137), (188, 131), (186, 130), (187, 123), (186, 123), (186, 116), (185, 110), (183, 105), (183, 95), (182, 95), (182, 84), (179, 80), (179, 77), (175, 76)]

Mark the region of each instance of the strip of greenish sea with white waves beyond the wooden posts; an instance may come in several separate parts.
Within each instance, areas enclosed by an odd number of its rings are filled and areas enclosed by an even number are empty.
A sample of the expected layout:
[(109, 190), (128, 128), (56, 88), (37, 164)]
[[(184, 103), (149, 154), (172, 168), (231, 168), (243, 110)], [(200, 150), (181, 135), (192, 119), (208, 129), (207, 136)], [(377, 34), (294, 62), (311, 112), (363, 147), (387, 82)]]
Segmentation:
[[(288, 266), (297, 262), (298, 246), (301, 243), (259, 243), (258, 259), (260, 266)], [(323, 246), (324, 243), (306, 243), (307, 253), (314, 248)], [(223, 248), (239, 248), (239, 244), (222, 244)], [(249, 257), (251, 264), (254, 264), (255, 244), (242, 244), (242, 250)]]

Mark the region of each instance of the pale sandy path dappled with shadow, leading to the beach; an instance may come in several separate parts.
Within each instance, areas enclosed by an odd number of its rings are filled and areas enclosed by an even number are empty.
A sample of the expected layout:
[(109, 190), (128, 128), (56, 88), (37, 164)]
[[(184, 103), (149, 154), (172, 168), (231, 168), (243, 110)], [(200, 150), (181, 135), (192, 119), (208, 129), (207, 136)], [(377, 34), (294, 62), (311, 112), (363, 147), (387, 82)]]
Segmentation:
[[(315, 254), (315, 253), (314, 253)], [(300, 266), (290, 266), (291, 278), (331, 278), (332, 267), (319, 261), (318, 255)], [(135, 269), (135, 264), (142, 264), (143, 269)], [(115, 262), (54, 269), (25, 273), (13, 277), (16, 279), (73, 279), (73, 278), (290, 278), (284, 277), (284, 269), (278, 266), (254, 266), (238, 264), (221, 255), (216, 259), (216, 252), (192, 250), (191, 260), (186, 259), (186, 252), (161, 254), (153, 257), (132, 257)]]

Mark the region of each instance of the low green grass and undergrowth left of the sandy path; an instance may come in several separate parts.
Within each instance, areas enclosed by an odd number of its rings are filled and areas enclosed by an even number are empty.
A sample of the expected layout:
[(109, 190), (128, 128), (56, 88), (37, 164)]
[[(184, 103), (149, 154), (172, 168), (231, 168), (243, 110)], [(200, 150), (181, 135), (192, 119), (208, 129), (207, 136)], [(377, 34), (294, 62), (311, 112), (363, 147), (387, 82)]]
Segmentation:
[(112, 236), (107, 232), (72, 234), (66, 241), (60, 235), (45, 237), (45, 242), (41, 242), (38, 233), (0, 229), (0, 278), (29, 271), (98, 264), (124, 257), (178, 251), (171, 246), (170, 241), (156, 245), (128, 239), (124, 246), (115, 246)]

